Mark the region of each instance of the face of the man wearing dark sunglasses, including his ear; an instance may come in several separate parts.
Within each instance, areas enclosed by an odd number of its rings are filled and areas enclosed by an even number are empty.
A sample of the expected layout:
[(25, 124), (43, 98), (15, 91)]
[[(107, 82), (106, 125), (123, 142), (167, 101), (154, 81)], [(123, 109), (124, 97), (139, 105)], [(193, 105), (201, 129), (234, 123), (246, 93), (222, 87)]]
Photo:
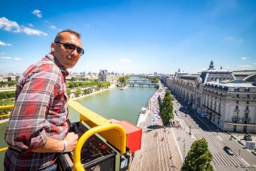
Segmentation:
[[(76, 45), (79, 48), (82, 48), (82, 43), (80, 39), (69, 32), (63, 32), (60, 34), (62, 39), (59, 42), (61, 43), (71, 43)], [(77, 49), (74, 51), (67, 51), (65, 45), (61, 43), (52, 42), (51, 43), (51, 54), (53, 54), (60, 64), (65, 68), (73, 68), (76, 65), (77, 61), (80, 59), (80, 54), (77, 54)]]

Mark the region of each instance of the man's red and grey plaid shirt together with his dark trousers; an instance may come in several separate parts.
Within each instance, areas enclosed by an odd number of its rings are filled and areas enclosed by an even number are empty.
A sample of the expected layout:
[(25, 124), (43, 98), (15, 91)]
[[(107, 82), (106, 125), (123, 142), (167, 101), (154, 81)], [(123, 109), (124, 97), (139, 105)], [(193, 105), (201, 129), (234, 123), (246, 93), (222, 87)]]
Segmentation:
[(48, 137), (63, 140), (68, 133), (68, 71), (51, 54), (31, 65), (16, 87), (16, 104), (4, 139), (5, 170), (39, 170), (53, 164), (57, 153), (31, 152)]

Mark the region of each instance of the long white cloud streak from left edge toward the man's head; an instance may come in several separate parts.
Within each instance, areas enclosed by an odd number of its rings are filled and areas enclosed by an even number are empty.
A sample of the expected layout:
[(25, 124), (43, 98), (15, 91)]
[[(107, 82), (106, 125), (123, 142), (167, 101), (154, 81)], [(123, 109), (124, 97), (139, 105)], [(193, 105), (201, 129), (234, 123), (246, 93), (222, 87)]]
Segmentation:
[(17, 22), (10, 21), (10, 20), (6, 19), (5, 17), (0, 18), (0, 28), (7, 30), (7, 31), (12, 31), (14, 33), (22, 33), (23, 32), (28, 35), (47, 36), (47, 33), (44, 33), (40, 30), (34, 30), (34, 29), (27, 28), (24, 26), (21, 28)]

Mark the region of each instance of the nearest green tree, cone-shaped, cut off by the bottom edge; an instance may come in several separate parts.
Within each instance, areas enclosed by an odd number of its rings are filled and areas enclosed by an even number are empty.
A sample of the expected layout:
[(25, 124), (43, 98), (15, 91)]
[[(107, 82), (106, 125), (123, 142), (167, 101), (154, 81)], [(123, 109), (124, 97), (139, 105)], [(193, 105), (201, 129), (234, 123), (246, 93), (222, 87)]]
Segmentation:
[(185, 158), (182, 171), (212, 171), (214, 170), (214, 167), (211, 165), (212, 158), (205, 138), (195, 141), (188, 152), (188, 156)]

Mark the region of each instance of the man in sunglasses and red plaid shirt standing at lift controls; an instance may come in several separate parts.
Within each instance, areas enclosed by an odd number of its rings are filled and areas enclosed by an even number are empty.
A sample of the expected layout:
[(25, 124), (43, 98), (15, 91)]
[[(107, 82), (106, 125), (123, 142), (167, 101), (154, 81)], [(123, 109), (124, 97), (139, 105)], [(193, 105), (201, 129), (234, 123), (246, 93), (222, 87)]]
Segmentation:
[(51, 54), (19, 78), (4, 135), (9, 146), (4, 170), (56, 170), (58, 155), (74, 150), (78, 136), (68, 133), (65, 77), (83, 55), (81, 47), (80, 33), (63, 30), (51, 43)]

